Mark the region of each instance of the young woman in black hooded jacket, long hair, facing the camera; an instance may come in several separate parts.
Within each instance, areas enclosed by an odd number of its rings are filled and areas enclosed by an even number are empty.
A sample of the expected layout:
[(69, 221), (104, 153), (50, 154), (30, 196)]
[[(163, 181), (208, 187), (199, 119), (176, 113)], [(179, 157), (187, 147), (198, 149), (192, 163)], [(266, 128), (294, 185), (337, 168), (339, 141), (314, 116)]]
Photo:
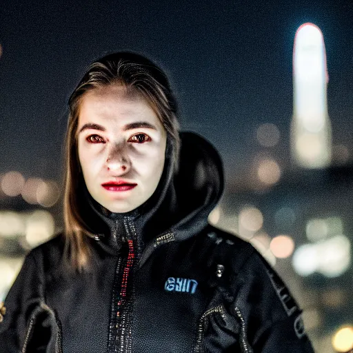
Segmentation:
[(69, 105), (65, 232), (26, 256), (1, 352), (312, 352), (279, 276), (208, 224), (221, 159), (179, 133), (165, 74), (110, 54)]

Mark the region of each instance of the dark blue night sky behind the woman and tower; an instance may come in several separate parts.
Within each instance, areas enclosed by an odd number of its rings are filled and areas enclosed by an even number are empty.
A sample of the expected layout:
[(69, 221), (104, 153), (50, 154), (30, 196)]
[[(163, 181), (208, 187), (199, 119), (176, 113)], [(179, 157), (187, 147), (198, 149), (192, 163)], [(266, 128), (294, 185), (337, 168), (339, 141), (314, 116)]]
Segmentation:
[(275, 123), (270, 153), (289, 158), (296, 29), (323, 32), (335, 144), (353, 157), (353, 2), (23, 1), (0, 10), (0, 173), (61, 179), (70, 92), (98, 57), (134, 50), (170, 75), (181, 128), (221, 152), (228, 180), (261, 150), (255, 130)]

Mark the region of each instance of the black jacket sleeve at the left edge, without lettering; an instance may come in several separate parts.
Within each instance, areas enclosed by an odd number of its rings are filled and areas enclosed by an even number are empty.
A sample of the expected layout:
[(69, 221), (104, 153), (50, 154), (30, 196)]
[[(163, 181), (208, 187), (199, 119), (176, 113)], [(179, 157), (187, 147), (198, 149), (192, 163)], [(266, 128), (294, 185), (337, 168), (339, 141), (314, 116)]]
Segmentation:
[(32, 253), (26, 256), (22, 268), (6, 296), (6, 314), (0, 323), (0, 351), (20, 352), (26, 337), (33, 308), (40, 302), (41, 280)]

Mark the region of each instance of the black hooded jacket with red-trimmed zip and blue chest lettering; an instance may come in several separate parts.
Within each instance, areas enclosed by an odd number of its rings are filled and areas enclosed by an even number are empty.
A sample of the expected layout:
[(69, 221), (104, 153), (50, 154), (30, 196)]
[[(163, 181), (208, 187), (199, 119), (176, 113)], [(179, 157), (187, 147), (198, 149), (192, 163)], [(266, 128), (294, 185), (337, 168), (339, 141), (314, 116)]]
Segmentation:
[(301, 310), (261, 255), (208, 224), (223, 192), (221, 159), (181, 134), (156, 192), (111, 214), (83, 184), (81, 210), (97, 234), (90, 267), (65, 267), (63, 236), (26, 256), (5, 301), (0, 352), (313, 352)]

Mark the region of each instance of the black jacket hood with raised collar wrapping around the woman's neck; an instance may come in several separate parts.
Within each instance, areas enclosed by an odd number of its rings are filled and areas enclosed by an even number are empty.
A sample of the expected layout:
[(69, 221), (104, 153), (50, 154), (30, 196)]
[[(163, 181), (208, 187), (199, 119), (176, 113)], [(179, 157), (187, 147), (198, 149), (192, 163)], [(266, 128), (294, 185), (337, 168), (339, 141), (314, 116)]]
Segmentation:
[(88, 216), (88, 227), (108, 252), (116, 253), (121, 247), (121, 232), (127, 221), (133, 224), (139, 249), (150, 251), (160, 243), (188, 239), (208, 225), (208, 215), (223, 192), (221, 157), (199, 134), (181, 132), (180, 137), (178, 171), (172, 168), (167, 141), (165, 165), (156, 191), (131, 212), (109, 212), (92, 199), (83, 183), (83, 199), (88, 201), (83, 212)]

